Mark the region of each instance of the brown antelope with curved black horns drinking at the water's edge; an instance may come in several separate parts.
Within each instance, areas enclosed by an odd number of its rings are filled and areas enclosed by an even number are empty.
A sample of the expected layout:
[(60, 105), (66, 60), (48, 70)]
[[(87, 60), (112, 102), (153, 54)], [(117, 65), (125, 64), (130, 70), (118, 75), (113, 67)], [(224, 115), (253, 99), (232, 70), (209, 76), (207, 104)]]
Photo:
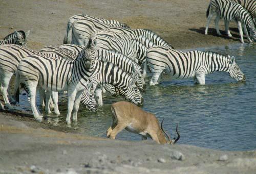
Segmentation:
[[(176, 127), (177, 139), (170, 140), (170, 136), (163, 130), (163, 120), (161, 127), (159, 127), (155, 114), (143, 111), (130, 102), (122, 101), (112, 104), (111, 112), (113, 122), (112, 126), (106, 131), (106, 137), (108, 138), (115, 139), (116, 135), (123, 129), (141, 135), (142, 140), (150, 137), (159, 144), (175, 144), (180, 138), (178, 125)], [(164, 134), (168, 140), (166, 140)]]

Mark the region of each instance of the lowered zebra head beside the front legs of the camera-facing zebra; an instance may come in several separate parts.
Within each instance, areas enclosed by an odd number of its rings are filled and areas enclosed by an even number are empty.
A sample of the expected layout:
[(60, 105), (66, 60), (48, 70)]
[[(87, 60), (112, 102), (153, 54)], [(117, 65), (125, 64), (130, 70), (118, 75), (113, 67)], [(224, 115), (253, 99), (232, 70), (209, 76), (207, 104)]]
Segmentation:
[(96, 103), (95, 97), (91, 92), (91, 90), (89, 90), (88, 88), (83, 90), (80, 102), (88, 110), (91, 110), (91, 111), (97, 110), (97, 103)]

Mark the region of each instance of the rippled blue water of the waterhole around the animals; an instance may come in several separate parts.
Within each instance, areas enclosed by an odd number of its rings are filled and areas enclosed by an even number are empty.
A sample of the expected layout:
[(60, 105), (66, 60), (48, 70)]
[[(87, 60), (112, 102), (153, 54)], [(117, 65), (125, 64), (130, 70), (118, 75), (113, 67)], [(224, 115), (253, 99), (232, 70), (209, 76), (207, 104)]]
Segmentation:
[[(142, 93), (143, 109), (155, 113), (170, 136), (176, 137), (179, 123), (181, 138), (178, 143), (192, 144), (218, 150), (244, 151), (256, 149), (256, 57), (255, 45), (236, 44), (200, 48), (229, 54), (246, 75), (246, 83), (238, 83), (228, 73), (215, 72), (206, 76), (205, 86), (194, 85), (193, 79), (170, 80), (163, 77), (161, 85), (147, 86)], [(49, 122), (66, 128), (67, 97), (59, 97), (61, 115), (51, 114)], [(105, 137), (111, 126), (111, 104), (120, 97), (104, 95), (104, 106), (97, 113), (81, 107), (78, 122), (71, 127), (84, 135)], [(30, 110), (27, 96), (21, 98), (20, 109)], [(123, 130), (120, 140), (141, 140), (137, 134)]]

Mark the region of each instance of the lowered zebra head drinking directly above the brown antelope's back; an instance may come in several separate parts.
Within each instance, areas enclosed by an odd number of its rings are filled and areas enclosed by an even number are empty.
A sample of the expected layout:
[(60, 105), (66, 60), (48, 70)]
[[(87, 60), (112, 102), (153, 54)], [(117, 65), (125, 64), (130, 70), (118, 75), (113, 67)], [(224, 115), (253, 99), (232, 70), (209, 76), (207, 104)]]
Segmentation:
[(116, 88), (118, 93), (122, 95), (127, 101), (134, 103), (137, 106), (143, 105), (143, 97), (137, 87), (137, 82), (133, 80), (130, 85), (124, 89)]

